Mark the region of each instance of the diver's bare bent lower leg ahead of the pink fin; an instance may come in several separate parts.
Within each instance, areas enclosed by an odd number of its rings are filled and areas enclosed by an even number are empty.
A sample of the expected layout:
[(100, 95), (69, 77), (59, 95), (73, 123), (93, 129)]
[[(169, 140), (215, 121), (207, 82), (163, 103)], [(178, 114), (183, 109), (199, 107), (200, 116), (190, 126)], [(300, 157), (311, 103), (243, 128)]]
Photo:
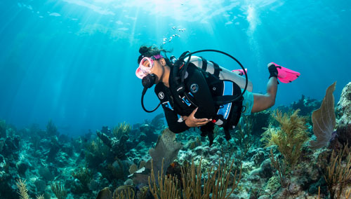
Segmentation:
[(277, 96), (278, 81), (272, 76), (267, 83), (267, 93), (265, 95), (253, 93), (253, 107), (251, 113), (257, 113), (273, 107)]

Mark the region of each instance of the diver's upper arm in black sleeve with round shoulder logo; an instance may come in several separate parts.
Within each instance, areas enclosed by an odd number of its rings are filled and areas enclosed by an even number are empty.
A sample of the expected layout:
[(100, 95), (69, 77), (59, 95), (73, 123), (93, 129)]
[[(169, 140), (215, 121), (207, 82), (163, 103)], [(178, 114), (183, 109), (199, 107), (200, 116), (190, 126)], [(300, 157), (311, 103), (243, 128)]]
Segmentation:
[(204, 78), (204, 75), (201, 73), (201, 71), (197, 69), (197, 67), (189, 66), (187, 71), (189, 72), (189, 75), (186, 79), (186, 86), (194, 96), (194, 99), (196, 101), (195, 103), (198, 107), (198, 110), (194, 114), (194, 117), (211, 119), (216, 115), (216, 107), (213, 102), (211, 91), (208, 88), (206, 79)]

